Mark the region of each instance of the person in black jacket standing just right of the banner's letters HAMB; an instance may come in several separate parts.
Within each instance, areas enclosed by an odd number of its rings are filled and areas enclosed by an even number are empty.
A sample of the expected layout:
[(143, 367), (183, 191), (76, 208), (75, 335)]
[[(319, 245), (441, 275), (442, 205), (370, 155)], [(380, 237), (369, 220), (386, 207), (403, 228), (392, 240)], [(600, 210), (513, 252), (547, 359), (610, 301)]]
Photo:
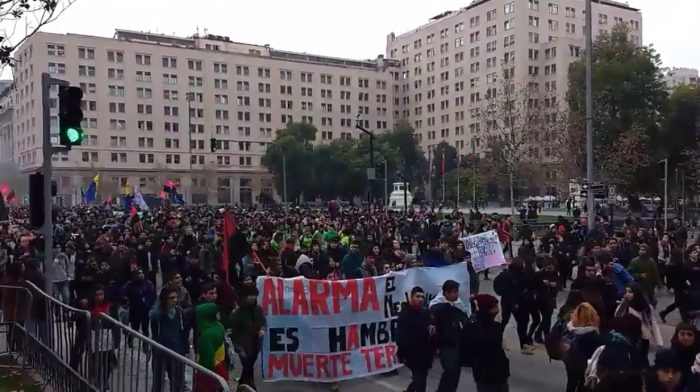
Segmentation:
[(396, 356), (411, 371), (411, 383), (406, 392), (425, 392), (428, 371), (433, 367), (432, 335), (435, 326), (430, 313), (423, 307), (425, 292), (421, 287), (411, 290), (410, 302), (401, 309), (396, 327)]

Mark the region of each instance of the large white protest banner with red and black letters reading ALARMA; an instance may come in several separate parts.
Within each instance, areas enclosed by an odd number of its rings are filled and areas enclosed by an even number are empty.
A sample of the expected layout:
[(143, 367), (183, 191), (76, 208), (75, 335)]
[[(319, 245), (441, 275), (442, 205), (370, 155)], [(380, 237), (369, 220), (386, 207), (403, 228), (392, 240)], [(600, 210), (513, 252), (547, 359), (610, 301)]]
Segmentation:
[(263, 377), (333, 382), (402, 366), (395, 344), (402, 303), (415, 286), (429, 302), (448, 279), (460, 284), (459, 297), (468, 309), (465, 263), (340, 281), (259, 277), (258, 303), (267, 317)]

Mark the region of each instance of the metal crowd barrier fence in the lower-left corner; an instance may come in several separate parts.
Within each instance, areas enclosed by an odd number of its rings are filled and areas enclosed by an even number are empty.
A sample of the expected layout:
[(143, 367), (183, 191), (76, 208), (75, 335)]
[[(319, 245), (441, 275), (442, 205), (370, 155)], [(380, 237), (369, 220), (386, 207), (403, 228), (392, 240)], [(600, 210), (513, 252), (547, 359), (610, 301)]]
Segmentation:
[[(76, 309), (35, 285), (0, 287), (23, 293), (21, 317), (3, 322), (7, 351), (60, 392), (189, 392), (208, 379), (207, 392), (230, 392), (221, 377), (106, 314)], [(22, 308), (24, 304), (28, 304)], [(12, 343), (12, 344), (10, 344)], [(1, 347), (1, 346), (0, 346)], [(2, 354), (2, 352), (0, 352)], [(211, 385), (220, 386), (211, 389)]]

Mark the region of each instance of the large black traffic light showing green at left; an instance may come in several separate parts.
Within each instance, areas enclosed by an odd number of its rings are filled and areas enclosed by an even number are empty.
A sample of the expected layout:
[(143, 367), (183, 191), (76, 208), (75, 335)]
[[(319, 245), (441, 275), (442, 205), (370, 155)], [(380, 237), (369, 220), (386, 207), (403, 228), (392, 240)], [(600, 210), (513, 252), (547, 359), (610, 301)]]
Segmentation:
[(83, 110), (80, 104), (83, 90), (80, 87), (60, 86), (58, 89), (59, 142), (62, 146), (79, 146), (85, 138), (83, 132)]

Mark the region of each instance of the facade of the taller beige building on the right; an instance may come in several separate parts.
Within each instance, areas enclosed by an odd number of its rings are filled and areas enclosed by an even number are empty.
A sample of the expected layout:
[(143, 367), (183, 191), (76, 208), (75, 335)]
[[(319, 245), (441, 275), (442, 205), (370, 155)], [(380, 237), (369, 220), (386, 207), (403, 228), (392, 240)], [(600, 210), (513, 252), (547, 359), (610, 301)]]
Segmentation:
[[(631, 41), (642, 43), (639, 10), (608, 0), (594, 0), (592, 8), (595, 36), (626, 23)], [(423, 149), (446, 141), (463, 155), (473, 148), (483, 154), (476, 111), (499, 89), (503, 64), (513, 67), (514, 80), (535, 83), (552, 102), (563, 99), (569, 64), (583, 55), (584, 11), (581, 0), (476, 0), (413, 31), (389, 34), (387, 56), (401, 63), (395, 104)], [(541, 150), (544, 160), (552, 154)], [(547, 179), (556, 176), (548, 169)]]

